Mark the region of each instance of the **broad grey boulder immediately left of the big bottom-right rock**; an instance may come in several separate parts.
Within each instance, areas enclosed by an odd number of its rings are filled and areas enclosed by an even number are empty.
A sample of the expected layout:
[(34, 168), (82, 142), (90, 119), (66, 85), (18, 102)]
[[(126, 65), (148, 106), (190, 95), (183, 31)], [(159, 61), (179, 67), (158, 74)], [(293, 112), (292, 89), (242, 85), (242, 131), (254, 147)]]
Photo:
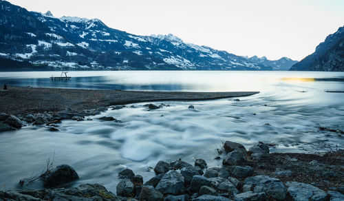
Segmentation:
[(253, 191), (255, 193), (265, 192), (267, 195), (272, 196), (277, 200), (284, 200), (287, 195), (286, 187), (283, 182), (277, 178), (270, 178), (263, 175), (253, 176), (244, 180), (244, 186), (245, 185), (247, 185), (245, 187), (246, 190), (250, 187), (250, 189), (254, 189)]

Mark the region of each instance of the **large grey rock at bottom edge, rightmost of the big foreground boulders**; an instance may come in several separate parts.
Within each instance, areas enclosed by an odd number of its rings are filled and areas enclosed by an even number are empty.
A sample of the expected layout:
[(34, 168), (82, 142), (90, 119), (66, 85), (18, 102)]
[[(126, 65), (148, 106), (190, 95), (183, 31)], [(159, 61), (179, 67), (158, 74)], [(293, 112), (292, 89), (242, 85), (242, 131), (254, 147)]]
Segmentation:
[(325, 191), (313, 187), (310, 184), (300, 182), (286, 182), (288, 192), (295, 201), (311, 200), (323, 201), (326, 200), (327, 194)]

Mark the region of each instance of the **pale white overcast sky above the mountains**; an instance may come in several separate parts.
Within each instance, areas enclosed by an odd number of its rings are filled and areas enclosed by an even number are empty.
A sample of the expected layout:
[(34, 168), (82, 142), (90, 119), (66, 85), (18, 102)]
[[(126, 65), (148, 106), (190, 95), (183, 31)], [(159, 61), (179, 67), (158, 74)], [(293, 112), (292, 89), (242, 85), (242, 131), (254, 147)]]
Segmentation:
[(301, 60), (344, 25), (344, 0), (10, 0), (131, 34), (173, 34), (240, 56)]

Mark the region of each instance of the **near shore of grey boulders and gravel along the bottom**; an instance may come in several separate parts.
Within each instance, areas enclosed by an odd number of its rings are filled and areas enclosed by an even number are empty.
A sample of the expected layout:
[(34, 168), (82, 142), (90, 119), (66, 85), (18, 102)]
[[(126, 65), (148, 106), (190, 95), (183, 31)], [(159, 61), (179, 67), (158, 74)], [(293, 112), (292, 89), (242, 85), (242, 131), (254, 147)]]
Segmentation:
[[(0, 191), (0, 200), (344, 200), (344, 150), (316, 154), (270, 154), (259, 142), (248, 151), (226, 141), (208, 167), (201, 158), (159, 161), (147, 181), (131, 169), (118, 173), (116, 194), (100, 184), (64, 187), (79, 178), (68, 165), (36, 178), (40, 190)], [(30, 181), (29, 181), (30, 182)]]

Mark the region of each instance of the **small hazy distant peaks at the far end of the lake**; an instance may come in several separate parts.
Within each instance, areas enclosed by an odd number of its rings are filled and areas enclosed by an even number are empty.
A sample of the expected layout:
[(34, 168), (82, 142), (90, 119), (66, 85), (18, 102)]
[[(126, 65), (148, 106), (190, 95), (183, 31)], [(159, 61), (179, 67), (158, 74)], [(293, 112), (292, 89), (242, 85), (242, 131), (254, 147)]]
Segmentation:
[(297, 61), (294, 61), (292, 59), (289, 59), (287, 57), (282, 57), (279, 60), (271, 61), (266, 59), (265, 56), (258, 57), (258, 56), (252, 56), (248, 58), (248, 60), (255, 62), (255, 63), (260, 63), (265, 66), (271, 66), (272, 70), (289, 70), (292, 65), (297, 63)]

